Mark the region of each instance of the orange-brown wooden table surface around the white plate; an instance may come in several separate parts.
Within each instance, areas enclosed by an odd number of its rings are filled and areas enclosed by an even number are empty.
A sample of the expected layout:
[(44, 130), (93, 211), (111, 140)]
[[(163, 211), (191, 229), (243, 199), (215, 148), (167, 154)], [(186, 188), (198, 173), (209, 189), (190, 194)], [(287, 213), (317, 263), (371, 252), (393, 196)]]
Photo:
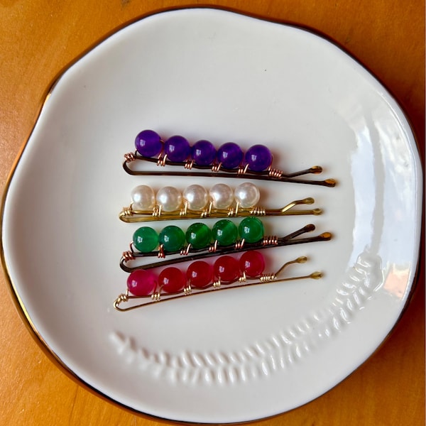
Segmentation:
[[(391, 90), (424, 158), (425, 1), (218, 0), (216, 6), (313, 28)], [(47, 89), (72, 60), (126, 23), (182, 0), (0, 1), (0, 182), (27, 140)], [(423, 239), (424, 244), (424, 239)], [(424, 425), (425, 275), (393, 334), (364, 365), (317, 400), (263, 425)], [(0, 274), (1, 425), (154, 425), (75, 383), (33, 340)]]

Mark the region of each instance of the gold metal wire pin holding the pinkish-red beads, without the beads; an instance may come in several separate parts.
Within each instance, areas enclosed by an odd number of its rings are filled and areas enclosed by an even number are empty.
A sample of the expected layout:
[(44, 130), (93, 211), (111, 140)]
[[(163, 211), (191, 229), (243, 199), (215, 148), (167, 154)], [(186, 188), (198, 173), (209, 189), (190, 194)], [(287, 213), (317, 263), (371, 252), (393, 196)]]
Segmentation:
[[(253, 278), (247, 278), (245, 274), (240, 275), (239, 278), (234, 280), (232, 283), (220, 283), (220, 281), (214, 281), (212, 282), (209, 287), (204, 288), (202, 290), (194, 290), (190, 287), (190, 285), (187, 285), (184, 290), (178, 292), (178, 293), (170, 293), (167, 295), (161, 294), (161, 289), (158, 289), (155, 291), (152, 295), (148, 296), (134, 296), (129, 294), (129, 290), (126, 290), (126, 293), (122, 293), (119, 295), (116, 300), (114, 300), (114, 308), (120, 312), (126, 312), (129, 310), (134, 310), (139, 307), (145, 307), (149, 305), (157, 305), (160, 302), (167, 302), (168, 300), (175, 300), (182, 297), (187, 297), (189, 295), (201, 295), (205, 293), (209, 293), (211, 291), (222, 291), (222, 290), (231, 290), (233, 288), (240, 288), (240, 287), (248, 287), (251, 285), (260, 285), (265, 283), (284, 283), (291, 280), (302, 280), (307, 278), (312, 278), (315, 280), (318, 280), (322, 278), (322, 272), (315, 271), (313, 273), (310, 273), (309, 275), (300, 275), (295, 277), (289, 277), (289, 278), (278, 278), (278, 275), (283, 272), (285, 268), (290, 266), (293, 263), (305, 263), (307, 261), (307, 257), (301, 256), (300, 258), (297, 258), (293, 261), (289, 261), (287, 263), (284, 263), (283, 266), (281, 266), (276, 273), (271, 274), (262, 274), (257, 277)], [(121, 303), (129, 302), (129, 300), (138, 300), (138, 299), (144, 299), (146, 302), (140, 303), (138, 305), (131, 305), (129, 307), (121, 307)]]

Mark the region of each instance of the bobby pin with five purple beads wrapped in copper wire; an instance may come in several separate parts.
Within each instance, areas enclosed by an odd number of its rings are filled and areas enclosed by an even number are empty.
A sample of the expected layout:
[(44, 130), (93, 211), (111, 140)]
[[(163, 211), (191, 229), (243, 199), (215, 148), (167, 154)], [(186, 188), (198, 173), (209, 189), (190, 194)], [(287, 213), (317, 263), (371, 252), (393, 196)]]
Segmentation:
[[(193, 146), (182, 136), (171, 136), (166, 141), (152, 130), (138, 133), (135, 140), (136, 151), (124, 155), (123, 168), (130, 175), (175, 175), (175, 176), (208, 176), (216, 178), (245, 178), (272, 180), (278, 182), (294, 182), (309, 185), (334, 187), (336, 180), (302, 180), (302, 175), (322, 173), (322, 167), (315, 165), (295, 173), (283, 173), (283, 170), (272, 168), (273, 155), (263, 145), (253, 145), (246, 153), (234, 142), (224, 143), (218, 150), (209, 141), (197, 141)], [(183, 166), (187, 171), (168, 170), (147, 171), (129, 167), (138, 160), (156, 163), (159, 166)], [(190, 173), (189, 170), (208, 170)]]

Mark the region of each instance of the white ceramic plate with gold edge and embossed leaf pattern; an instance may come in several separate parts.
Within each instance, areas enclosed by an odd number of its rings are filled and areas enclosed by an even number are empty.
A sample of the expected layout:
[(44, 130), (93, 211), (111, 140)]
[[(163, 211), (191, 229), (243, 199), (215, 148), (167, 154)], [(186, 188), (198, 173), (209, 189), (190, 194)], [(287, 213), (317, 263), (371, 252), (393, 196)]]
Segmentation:
[[(259, 185), (268, 206), (324, 208), (267, 218), (267, 233), (313, 222), (334, 234), (265, 251), (270, 271), (306, 255), (292, 273), (324, 278), (114, 310), (138, 226), (118, 213), (137, 184), (170, 184), (121, 168), (143, 129), (264, 143), (288, 171), (322, 165), (337, 187)], [(53, 87), (6, 195), (4, 263), (35, 332), (99, 393), (166, 419), (253, 420), (326, 392), (391, 331), (413, 288), (421, 182), (400, 107), (336, 45), (225, 11), (170, 11), (112, 35)]]

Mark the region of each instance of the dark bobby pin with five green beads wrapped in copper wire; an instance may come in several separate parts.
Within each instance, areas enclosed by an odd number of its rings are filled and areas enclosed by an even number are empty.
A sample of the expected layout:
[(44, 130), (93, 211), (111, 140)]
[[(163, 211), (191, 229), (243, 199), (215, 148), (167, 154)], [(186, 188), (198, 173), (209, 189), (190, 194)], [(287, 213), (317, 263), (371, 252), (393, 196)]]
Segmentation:
[[(159, 234), (151, 227), (142, 226), (134, 232), (130, 250), (124, 251), (122, 254), (120, 267), (123, 271), (132, 272), (137, 269), (156, 268), (188, 260), (194, 261), (218, 254), (332, 239), (332, 234), (329, 232), (312, 237), (297, 238), (314, 230), (315, 225), (307, 224), (286, 236), (265, 236), (263, 223), (257, 217), (244, 218), (238, 227), (229, 219), (219, 220), (212, 226), (212, 229), (209, 229), (206, 224), (196, 222), (188, 227), (186, 233), (175, 225), (165, 226)], [(133, 263), (132, 266), (129, 266), (128, 264), (136, 261), (137, 258), (153, 256), (157, 258), (172, 256), (173, 258), (145, 265), (134, 265)]]

